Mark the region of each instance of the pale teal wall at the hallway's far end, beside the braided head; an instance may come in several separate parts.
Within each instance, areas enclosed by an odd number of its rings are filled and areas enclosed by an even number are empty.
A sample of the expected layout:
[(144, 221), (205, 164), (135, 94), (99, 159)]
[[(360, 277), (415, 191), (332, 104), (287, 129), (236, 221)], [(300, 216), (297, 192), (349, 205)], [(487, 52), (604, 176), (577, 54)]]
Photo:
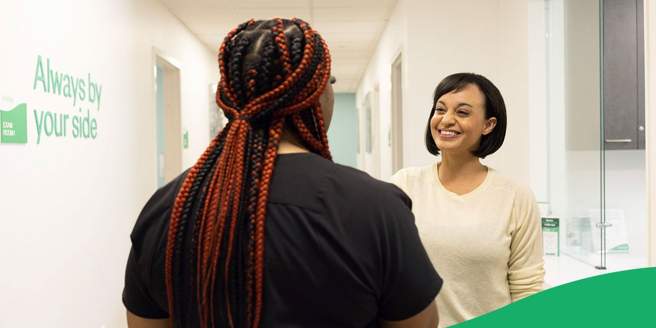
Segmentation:
[(358, 161), (358, 109), (356, 108), (356, 94), (335, 94), (335, 110), (327, 134), (333, 161), (342, 165), (356, 167)]

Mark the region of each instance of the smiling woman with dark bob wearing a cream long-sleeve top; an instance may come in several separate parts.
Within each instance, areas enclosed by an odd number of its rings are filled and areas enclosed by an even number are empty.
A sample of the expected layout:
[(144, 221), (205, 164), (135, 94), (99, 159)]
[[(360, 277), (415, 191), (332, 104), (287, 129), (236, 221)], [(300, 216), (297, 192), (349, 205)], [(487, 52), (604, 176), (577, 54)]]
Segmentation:
[(501, 147), (506, 106), (487, 78), (457, 73), (435, 90), (426, 148), (441, 161), (392, 176), (445, 280), (440, 323), (455, 325), (542, 289), (541, 221), (533, 192), (480, 159)]

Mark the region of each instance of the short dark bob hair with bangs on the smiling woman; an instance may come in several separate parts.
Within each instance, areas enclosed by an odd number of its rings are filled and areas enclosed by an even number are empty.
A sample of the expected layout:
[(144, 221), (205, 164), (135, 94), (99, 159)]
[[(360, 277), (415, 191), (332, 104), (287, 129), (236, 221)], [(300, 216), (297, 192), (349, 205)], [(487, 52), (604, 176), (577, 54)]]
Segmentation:
[(481, 145), (478, 150), (472, 151), (472, 155), (480, 158), (485, 158), (489, 154), (493, 154), (503, 144), (504, 138), (506, 138), (506, 104), (503, 102), (503, 97), (499, 89), (490, 82), (489, 79), (483, 75), (478, 75), (474, 73), (455, 73), (445, 77), (438, 87), (435, 88), (433, 94), (433, 107), (430, 109), (430, 115), (428, 115), (428, 123), (426, 123), (426, 148), (428, 152), (433, 155), (440, 155), (440, 148), (435, 144), (433, 139), (433, 134), (430, 129), (430, 119), (435, 113), (435, 104), (438, 102), (441, 96), (449, 92), (458, 92), (461, 91), (468, 84), (473, 84), (478, 87), (478, 89), (483, 94), (485, 103), (485, 119), (490, 117), (497, 117), (497, 125), (494, 127), (491, 133), (488, 133), (484, 136), (481, 136)]

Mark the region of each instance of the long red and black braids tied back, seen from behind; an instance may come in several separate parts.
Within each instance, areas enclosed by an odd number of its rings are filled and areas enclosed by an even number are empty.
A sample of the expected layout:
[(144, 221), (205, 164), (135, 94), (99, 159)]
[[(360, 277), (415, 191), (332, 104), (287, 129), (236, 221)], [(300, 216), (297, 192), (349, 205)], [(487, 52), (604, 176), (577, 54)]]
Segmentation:
[(190, 169), (169, 224), (172, 327), (258, 327), (264, 220), (280, 136), (286, 125), (308, 150), (331, 159), (319, 106), (330, 63), (325, 41), (297, 18), (251, 20), (225, 37), (216, 103), (229, 121)]

